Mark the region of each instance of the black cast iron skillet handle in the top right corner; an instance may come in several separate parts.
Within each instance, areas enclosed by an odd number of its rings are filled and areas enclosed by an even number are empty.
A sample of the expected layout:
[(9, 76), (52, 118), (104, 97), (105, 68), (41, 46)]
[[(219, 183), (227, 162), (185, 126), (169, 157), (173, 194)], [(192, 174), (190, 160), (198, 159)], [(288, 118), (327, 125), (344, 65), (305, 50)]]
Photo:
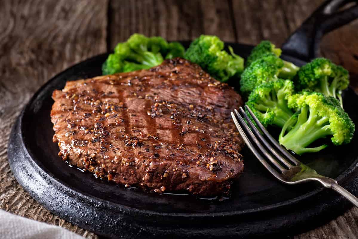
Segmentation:
[[(350, 8), (339, 11), (348, 3)], [(308, 19), (286, 40), (282, 51), (306, 62), (318, 56), (319, 44), (324, 34), (358, 18), (357, 0), (325, 1)]]

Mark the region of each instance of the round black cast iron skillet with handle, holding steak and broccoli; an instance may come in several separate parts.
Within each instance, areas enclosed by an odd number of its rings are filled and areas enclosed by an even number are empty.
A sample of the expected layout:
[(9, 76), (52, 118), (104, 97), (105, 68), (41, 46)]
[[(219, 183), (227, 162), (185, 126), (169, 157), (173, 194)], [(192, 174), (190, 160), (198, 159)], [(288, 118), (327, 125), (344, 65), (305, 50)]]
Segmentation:
[[(344, 3), (329, 1), (316, 10), (282, 46), (282, 58), (302, 65), (315, 57), (322, 34), (358, 16), (358, 5), (336, 12)], [(187, 47), (189, 42), (183, 44)], [(243, 57), (252, 49), (227, 45)], [(248, 150), (243, 151), (245, 172), (228, 199), (126, 189), (70, 168), (57, 156), (58, 146), (52, 143), (51, 94), (66, 81), (101, 75), (107, 55), (85, 60), (50, 79), (25, 106), (11, 132), (8, 157), (16, 180), (54, 214), (109, 238), (256, 238), (308, 230), (351, 206), (315, 183), (281, 184)], [(231, 84), (237, 87), (237, 83)], [(345, 110), (358, 125), (353, 103), (358, 96), (350, 89), (343, 97)], [(355, 133), (349, 145), (328, 147), (300, 159), (358, 195), (357, 141)]]

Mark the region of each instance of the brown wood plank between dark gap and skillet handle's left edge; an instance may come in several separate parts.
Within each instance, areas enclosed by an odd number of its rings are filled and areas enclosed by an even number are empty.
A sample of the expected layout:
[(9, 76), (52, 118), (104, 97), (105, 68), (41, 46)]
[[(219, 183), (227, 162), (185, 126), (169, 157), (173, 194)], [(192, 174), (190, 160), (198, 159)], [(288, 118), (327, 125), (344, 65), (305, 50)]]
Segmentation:
[(320, 3), (322, 0), (233, 0), (237, 40), (255, 45), (267, 39), (280, 46)]

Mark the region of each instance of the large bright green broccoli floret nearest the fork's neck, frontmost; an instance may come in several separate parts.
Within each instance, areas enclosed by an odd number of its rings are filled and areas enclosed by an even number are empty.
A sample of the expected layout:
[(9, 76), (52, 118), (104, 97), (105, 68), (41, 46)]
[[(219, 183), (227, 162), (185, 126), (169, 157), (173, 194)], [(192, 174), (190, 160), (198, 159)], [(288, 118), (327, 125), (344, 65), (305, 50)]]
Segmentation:
[[(337, 99), (322, 93), (304, 90), (288, 97), (288, 106), (297, 113), (282, 127), (279, 142), (295, 153), (318, 152), (327, 145), (308, 148), (311, 143), (332, 136), (334, 145), (349, 143), (353, 137), (354, 124), (344, 112)], [(287, 127), (292, 126), (286, 133)]]

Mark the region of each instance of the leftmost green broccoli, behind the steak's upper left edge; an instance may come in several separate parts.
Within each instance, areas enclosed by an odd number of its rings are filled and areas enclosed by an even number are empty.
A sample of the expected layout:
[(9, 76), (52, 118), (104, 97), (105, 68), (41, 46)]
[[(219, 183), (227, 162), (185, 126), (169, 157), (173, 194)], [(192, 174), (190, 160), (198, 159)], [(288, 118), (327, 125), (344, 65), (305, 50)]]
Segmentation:
[(177, 42), (168, 43), (160, 36), (147, 38), (133, 34), (126, 42), (118, 43), (102, 65), (103, 74), (130, 72), (149, 69), (163, 62), (163, 59), (183, 57), (184, 47)]

